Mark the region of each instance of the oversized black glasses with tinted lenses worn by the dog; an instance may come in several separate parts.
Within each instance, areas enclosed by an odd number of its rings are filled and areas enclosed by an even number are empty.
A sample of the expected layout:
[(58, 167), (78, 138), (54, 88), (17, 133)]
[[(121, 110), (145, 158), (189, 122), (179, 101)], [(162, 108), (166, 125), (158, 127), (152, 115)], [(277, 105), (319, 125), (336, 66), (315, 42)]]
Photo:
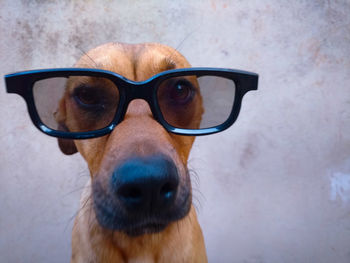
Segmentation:
[(220, 132), (237, 119), (244, 94), (258, 88), (257, 74), (220, 68), (169, 70), (142, 82), (101, 69), (43, 69), (9, 74), (5, 81), (8, 93), (24, 98), (39, 130), (68, 139), (110, 133), (134, 99), (147, 101), (169, 132)]

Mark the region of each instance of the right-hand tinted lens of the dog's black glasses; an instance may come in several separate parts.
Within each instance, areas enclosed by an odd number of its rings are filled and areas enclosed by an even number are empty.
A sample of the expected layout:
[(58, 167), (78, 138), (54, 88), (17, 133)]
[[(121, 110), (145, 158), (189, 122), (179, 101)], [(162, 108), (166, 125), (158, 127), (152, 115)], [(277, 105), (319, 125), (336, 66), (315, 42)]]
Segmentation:
[(157, 92), (163, 118), (171, 126), (204, 129), (223, 124), (235, 101), (235, 83), (220, 76), (185, 76), (163, 81)]

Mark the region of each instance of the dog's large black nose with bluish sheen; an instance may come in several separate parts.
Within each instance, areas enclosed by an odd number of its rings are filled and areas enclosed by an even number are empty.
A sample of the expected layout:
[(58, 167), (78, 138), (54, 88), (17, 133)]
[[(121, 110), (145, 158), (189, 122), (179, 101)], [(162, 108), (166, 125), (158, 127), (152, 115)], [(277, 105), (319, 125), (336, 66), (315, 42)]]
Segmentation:
[(179, 176), (165, 156), (132, 158), (118, 166), (111, 178), (112, 190), (128, 212), (164, 212), (174, 204)]

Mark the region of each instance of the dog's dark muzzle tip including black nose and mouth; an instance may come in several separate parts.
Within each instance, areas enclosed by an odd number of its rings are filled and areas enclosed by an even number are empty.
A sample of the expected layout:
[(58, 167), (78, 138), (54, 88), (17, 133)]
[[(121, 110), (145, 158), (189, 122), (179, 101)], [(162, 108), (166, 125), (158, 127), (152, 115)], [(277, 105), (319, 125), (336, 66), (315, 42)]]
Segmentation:
[(97, 219), (133, 236), (162, 231), (190, 209), (190, 187), (181, 181), (164, 155), (129, 158), (115, 168), (107, 191), (98, 181), (93, 184)]

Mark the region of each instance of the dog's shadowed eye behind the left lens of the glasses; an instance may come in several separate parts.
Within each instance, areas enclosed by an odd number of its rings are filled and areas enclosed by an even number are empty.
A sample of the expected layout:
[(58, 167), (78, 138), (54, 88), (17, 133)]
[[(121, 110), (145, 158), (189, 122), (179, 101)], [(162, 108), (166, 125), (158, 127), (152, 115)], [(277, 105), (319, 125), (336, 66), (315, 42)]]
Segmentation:
[(74, 89), (73, 97), (79, 106), (85, 108), (103, 107), (103, 96), (99, 92), (99, 89), (79, 86)]

